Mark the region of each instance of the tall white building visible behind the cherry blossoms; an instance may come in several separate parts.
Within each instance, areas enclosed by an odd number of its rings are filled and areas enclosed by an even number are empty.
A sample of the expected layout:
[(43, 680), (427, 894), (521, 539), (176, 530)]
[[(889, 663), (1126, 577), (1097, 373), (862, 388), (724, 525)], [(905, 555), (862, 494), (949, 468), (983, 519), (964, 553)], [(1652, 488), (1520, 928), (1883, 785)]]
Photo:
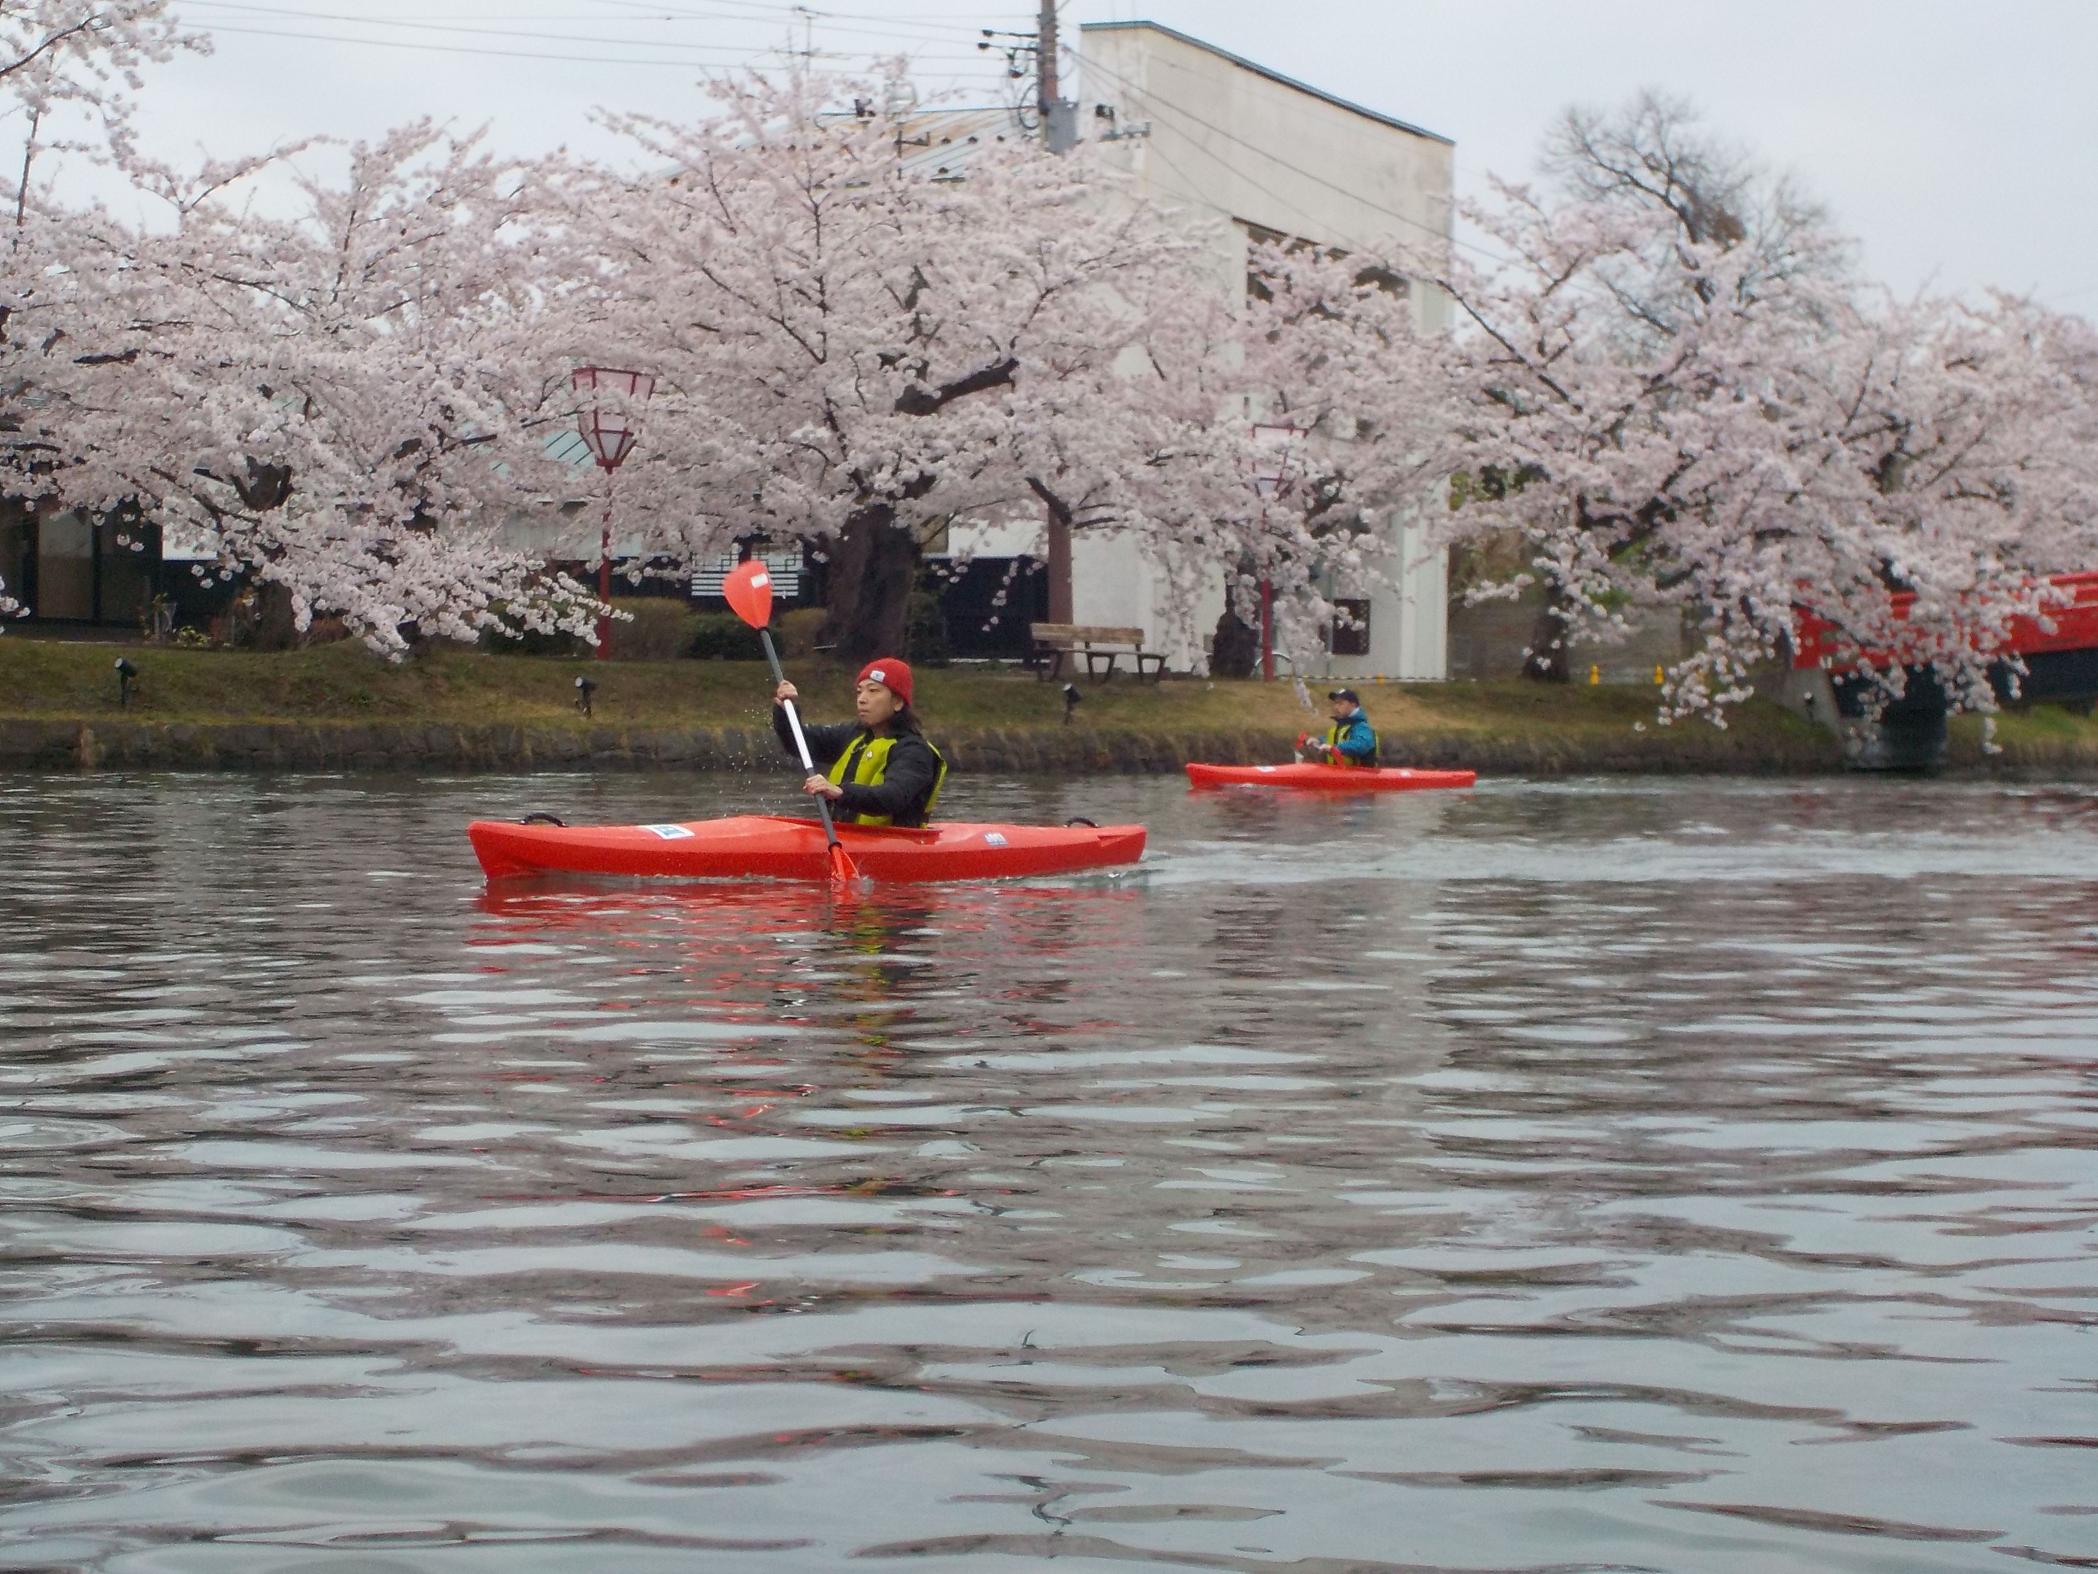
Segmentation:
[[(1137, 189), (1194, 218), (1225, 220), (1215, 277), (1244, 288), (1244, 243), (1257, 231), (1345, 250), (1378, 241), (1448, 241), (1456, 145), (1374, 109), (1292, 82), (1150, 21), (1087, 23), (1078, 48), (1080, 136), (1104, 141)], [(1412, 292), (1422, 332), (1448, 325), (1448, 302)], [(1368, 604), (1368, 638), (1341, 634), (1343, 653), (1324, 672), (1349, 678), (1446, 676), (1448, 573), (1443, 552), (1425, 552), (1416, 527), (1393, 527), (1395, 586)], [(1345, 590), (1345, 588), (1339, 588)], [(1078, 537), (1072, 552), (1072, 617), (1135, 625), (1146, 644), (1171, 651), (1158, 607), (1164, 596), (1135, 546)], [(1198, 628), (1223, 613), (1208, 588)], [(1366, 648), (1347, 653), (1349, 644)], [(1194, 651), (1171, 651), (1185, 667)]]

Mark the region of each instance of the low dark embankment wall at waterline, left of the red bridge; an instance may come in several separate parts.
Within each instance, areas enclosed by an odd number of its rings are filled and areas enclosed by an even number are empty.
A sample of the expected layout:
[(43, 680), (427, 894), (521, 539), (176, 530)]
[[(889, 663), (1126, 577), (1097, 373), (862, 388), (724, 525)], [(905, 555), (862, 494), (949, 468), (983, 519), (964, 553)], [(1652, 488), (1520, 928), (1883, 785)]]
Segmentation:
[[(1190, 760), (1282, 764), (1273, 732), (957, 730), (934, 743), (978, 774), (1177, 772)], [(1838, 770), (1832, 737), (1750, 743), (1716, 728), (1567, 737), (1391, 737), (1393, 766), (1485, 774), (1800, 774)], [(438, 722), (0, 720), (0, 770), (745, 770), (780, 766), (770, 728), (451, 726)]]

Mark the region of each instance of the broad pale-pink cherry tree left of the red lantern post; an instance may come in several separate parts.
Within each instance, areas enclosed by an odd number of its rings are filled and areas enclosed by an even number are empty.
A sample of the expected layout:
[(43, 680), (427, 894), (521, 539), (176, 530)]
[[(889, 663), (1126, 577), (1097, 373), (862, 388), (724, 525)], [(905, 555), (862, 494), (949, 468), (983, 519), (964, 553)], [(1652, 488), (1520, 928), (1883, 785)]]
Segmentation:
[(529, 170), (424, 124), (300, 178), (285, 218), (237, 199), (252, 172), (141, 166), (170, 231), (44, 225), (17, 453), (65, 506), (134, 508), (250, 571), (298, 628), (334, 613), (382, 651), (587, 628), (583, 590), (499, 535), (571, 485), (543, 453), (573, 397), (537, 346)]

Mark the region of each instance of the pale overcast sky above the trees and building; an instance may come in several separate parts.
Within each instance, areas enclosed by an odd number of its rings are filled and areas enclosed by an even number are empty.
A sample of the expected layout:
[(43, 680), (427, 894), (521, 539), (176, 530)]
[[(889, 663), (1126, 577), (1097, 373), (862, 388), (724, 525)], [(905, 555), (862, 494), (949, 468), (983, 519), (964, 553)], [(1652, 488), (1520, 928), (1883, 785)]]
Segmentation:
[[(707, 71), (906, 50), (994, 101), (978, 29), (1024, 2), (178, 0), (216, 55), (153, 73), (149, 145), (258, 151), (436, 115), (497, 145), (606, 151), (596, 105), (692, 115)], [(1152, 19), (1456, 141), (1458, 187), (1529, 172), (1567, 105), (1643, 86), (1792, 170), (1899, 290), (2001, 285), (2098, 313), (2092, 0), (1068, 0)]]

